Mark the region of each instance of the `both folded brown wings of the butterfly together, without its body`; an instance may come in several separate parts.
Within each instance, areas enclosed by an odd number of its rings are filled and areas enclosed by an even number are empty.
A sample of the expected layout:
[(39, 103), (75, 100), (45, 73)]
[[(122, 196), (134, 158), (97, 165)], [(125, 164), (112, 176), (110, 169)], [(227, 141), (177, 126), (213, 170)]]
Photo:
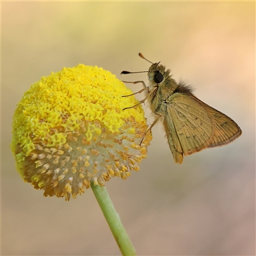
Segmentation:
[(174, 93), (166, 102), (164, 127), (175, 163), (204, 148), (218, 147), (241, 135), (231, 118), (192, 94)]

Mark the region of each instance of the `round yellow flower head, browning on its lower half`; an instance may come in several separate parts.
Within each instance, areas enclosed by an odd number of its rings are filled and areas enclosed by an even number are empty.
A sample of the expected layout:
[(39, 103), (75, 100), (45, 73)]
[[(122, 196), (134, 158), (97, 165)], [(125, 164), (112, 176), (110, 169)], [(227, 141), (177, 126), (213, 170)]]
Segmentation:
[(122, 97), (131, 93), (109, 71), (81, 64), (32, 84), (13, 115), (11, 147), (22, 178), (44, 196), (69, 200), (90, 182), (104, 186), (138, 171), (152, 136), (145, 136), (141, 106), (123, 110), (138, 104)]

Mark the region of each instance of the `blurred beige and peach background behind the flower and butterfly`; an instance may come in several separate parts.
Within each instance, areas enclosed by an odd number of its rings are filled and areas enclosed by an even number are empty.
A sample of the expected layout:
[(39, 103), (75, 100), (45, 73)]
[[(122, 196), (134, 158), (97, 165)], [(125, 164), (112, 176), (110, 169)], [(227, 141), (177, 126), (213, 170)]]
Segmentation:
[[(79, 63), (188, 79), (242, 136), (173, 163), (163, 127), (128, 180), (107, 182), (138, 255), (255, 255), (254, 2), (2, 2), (2, 255), (120, 255), (90, 189), (44, 198), (15, 170), (12, 115), (32, 83)], [(128, 84), (133, 92), (142, 87)], [(139, 95), (138, 99), (142, 99)], [(148, 124), (153, 116), (145, 106)]]

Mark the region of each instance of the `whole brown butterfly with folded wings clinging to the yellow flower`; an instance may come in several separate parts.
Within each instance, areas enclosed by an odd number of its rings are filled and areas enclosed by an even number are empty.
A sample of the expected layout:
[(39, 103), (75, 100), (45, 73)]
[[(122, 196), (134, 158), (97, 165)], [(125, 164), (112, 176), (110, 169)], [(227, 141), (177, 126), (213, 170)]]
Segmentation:
[[(141, 53), (139, 56), (147, 60)], [(147, 96), (138, 104), (147, 100), (156, 116), (145, 134), (162, 120), (175, 163), (181, 164), (184, 156), (200, 152), (205, 148), (226, 145), (242, 134), (234, 120), (195, 97), (191, 86), (184, 81), (177, 83), (172, 78), (171, 71), (160, 65), (160, 62), (152, 63), (150, 68), (143, 72), (148, 73), (148, 86), (144, 81), (124, 81), (124, 83), (143, 84), (144, 88), (136, 93), (147, 91)], [(140, 72), (121, 72), (121, 74), (132, 73)]]

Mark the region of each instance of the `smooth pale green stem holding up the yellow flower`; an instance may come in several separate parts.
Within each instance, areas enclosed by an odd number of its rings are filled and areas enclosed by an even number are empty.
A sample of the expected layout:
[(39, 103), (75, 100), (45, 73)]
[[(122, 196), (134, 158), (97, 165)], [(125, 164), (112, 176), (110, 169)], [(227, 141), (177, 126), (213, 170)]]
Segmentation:
[(93, 182), (91, 182), (91, 186), (122, 255), (136, 255), (131, 240), (111, 202), (107, 189), (105, 187), (94, 186)]

